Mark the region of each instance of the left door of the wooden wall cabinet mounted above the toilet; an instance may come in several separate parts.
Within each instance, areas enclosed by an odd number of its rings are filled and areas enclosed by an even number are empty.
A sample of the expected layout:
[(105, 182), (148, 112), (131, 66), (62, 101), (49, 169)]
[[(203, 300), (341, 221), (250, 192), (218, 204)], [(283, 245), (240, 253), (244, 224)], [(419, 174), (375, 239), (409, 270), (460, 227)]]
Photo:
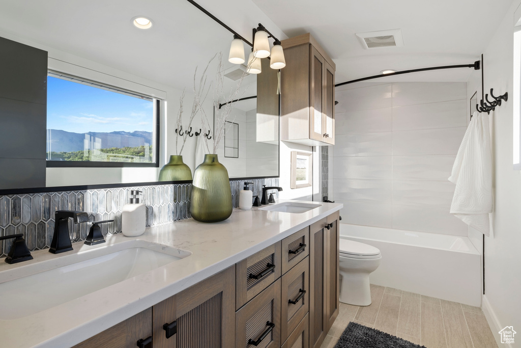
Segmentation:
[(324, 112), (324, 58), (312, 45), (309, 45), (309, 138), (324, 141), (322, 113)]

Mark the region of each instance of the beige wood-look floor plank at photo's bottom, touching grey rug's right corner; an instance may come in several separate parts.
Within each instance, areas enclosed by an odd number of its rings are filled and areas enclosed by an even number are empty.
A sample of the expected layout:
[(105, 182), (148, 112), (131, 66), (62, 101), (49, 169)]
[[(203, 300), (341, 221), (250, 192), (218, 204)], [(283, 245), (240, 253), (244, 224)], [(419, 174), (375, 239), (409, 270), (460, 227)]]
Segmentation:
[(441, 306), (439, 305), (427, 302), (421, 303), (421, 344), (428, 348), (447, 347)]

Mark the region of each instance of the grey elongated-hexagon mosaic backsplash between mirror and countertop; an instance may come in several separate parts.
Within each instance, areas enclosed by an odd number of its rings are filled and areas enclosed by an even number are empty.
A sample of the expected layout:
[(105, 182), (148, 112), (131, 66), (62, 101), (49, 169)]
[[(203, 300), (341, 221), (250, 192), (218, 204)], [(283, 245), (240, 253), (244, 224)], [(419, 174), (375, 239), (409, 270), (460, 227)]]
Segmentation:
[[(262, 185), (278, 186), (278, 178), (251, 179), (253, 195), (261, 195)], [(230, 181), (233, 208), (239, 207), (239, 191), (244, 181)], [(29, 250), (49, 248), (54, 233), (56, 210), (80, 210), (89, 213), (90, 222), (114, 220), (101, 225), (103, 235), (121, 232), (121, 210), (129, 202), (130, 190), (143, 191), (146, 225), (153, 226), (190, 218), (191, 184), (169, 184), (104, 188), (81, 191), (57, 191), (0, 196), (0, 236), (21, 233)], [(83, 241), (90, 224), (74, 224), (69, 219), (72, 242)], [(13, 241), (0, 241), (0, 257), (6, 257)]]

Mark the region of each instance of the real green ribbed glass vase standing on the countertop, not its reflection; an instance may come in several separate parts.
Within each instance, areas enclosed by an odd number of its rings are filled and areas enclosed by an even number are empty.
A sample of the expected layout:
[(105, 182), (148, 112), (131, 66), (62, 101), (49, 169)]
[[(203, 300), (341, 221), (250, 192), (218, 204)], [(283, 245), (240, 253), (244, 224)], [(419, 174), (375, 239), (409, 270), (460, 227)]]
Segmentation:
[(218, 222), (230, 217), (232, 211), (230, 178), (216, 154), (205, 154), (194, 172), (190, 214), (201, 222)]

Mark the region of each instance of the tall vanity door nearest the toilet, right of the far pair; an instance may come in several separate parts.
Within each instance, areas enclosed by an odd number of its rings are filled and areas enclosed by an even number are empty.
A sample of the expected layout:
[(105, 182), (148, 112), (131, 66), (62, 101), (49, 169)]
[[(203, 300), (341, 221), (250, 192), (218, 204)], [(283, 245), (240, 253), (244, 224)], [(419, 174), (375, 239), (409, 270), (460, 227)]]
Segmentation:
[(327, 218), (326, 228), (326, 314), (327, 314), (327, 331), (333, 326), (333, 322), (339, 313), (340, 298), (340, 259), (339, 259), (339, 243), (340, 229), (339, 212), (329, 215)]

